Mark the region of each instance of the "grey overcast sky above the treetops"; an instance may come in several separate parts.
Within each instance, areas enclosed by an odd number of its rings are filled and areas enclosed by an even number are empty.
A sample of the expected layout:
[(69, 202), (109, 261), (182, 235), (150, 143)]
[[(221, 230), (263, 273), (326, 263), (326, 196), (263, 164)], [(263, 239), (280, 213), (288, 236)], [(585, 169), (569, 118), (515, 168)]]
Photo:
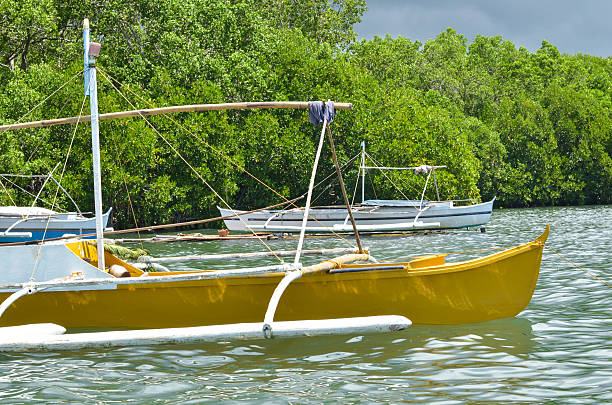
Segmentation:
[(561, 53), (612, 56), (612, 0), (367, 0), (359, 38), (402, 35), (425, 42), (447, 27), (471, 42), (501, 35), (537, 50), (546, 40)]

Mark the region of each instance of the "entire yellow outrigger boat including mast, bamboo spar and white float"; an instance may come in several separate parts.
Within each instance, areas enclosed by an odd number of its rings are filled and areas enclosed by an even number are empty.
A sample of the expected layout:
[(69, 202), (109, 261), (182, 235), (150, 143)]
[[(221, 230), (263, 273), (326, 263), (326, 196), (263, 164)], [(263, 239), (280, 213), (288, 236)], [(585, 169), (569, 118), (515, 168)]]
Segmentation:
[[(332, 103), (323, 105), (322, 111), (320, 104), (305, 102), (186, 107), (208, 111), (314, 105), (311, 113), (319, 109), (322, 130), (293, 263), (158, 273), (105, 251), (97, 139), (98, 120), (105, 114), (97, 113), (93, 59), (99, 47), (89, 44), (88, 28), (86, 23), (85, 77), (89, 78), (86, 89), (93, 103), (91, 116), (54, 123), (91, 121), (96, 240), (0, 245), (0, 351), (396, 331), (413, 322), (457, 324), (511, 317), (529, 303), (548, 228), (533, 241), (475, 260), (453, 263), (446, 261), (446, 254), (436, 254), (376, 262), (363, 247), (348, 210), (357, 244), (354, 253), (302, 265), (306, 222), (325, 133), (349, 207), (329, 126)], [(341, 103), (336, 107), (352, 108)], [(166, 107), (106, 117), (177, 111), (186, 110)], [(40, 122), (4, 125), (0, 131), (27, 125), (40, 126)], [(94, 328), (95, 332), (64, 334), (66, 328), (69, 332)]]

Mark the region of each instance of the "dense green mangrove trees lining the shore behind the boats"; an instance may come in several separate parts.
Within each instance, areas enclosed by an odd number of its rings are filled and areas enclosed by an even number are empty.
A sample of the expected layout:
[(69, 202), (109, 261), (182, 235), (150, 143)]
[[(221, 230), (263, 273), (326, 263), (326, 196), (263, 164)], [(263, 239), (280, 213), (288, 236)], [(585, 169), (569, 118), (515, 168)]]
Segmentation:
[[(365, 0), (0, 0), (0, 122), (89, 112), (79, 75), (82, 19), (89, 17), (92, 39), (103, 44), (101, 112), (352, 102), (355, 109), (332, 125), (342, 162), (365, 141), (385, 165), (448, 166), (437, 173), (442, 198), (497, 196), (504, 207), (612, 202), (610, 58), (560, 54), (547, 42), (529, 52), (501, 37), (469, 43), (450, 28), (424, 44), (357, 41), (353, 27), (365, 7)], [(130, 205), (138, 222), (152, 224), (216, 215), (221, 199), (238, 208), (281, 200), (241, 168), (285, 197), (305, 191), (318, 136), (305, 112), (171, 118), (150, 117), (155, 129), (142, 119), (101, 123), (104, 204), (114, 207), (119, 226), (134, 224)], [(48, 173), (61, 163), (59, 178), (69, 151), (62, 184), (91, 209), (86, 124), (0, 133), (0, 172)], [(351, 166), (345, 176), (353, 194)], [(320, 177), (332, 171), (326, 148)], [(407, 172), (388, 176), (413, 198), (425, 181)], [(21, 185), (35, 192), (40, 182)], [(9, 186), (2, 183), (0, 204), (31, 201)], [(317, 203), (339, 202), (335, 187)], [(45, 190), (41, 196), (53, 200), (55, 190)], [(374, 172), (367, 193), (402, 198)]]

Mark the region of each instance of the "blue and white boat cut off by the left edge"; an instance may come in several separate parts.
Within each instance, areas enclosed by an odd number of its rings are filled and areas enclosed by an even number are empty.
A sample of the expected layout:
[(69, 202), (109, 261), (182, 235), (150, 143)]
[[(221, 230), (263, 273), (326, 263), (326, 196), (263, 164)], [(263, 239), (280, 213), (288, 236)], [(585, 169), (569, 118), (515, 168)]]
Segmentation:
[[(0, 243), (31, 242), (61, 238), (68, 235), (95, 234), (96, 219), (86, 217), (81, 212), (70, 194), (53, 177), (53, 172), (48, 175), (0, 174), (3, 181), (7, 181), (21, 191), (31, 194), (10, 180), (16, 177), (42, 179), (43, 185), (38, 194), (32, 194), (34, 201), (30, 206), (0, 206)], [(40, 192), (49, 181), (58, 185), (58, 189), (74, 204), (76, 211), (58, 212), (57, 210), (36, 206)], [(53, 206), (51, 203), (49, 205)], [(102, 215), (102, 224), (105, 231), (112, 230), (111, 227), (107, 226), (111, 210), (109, 209)]]

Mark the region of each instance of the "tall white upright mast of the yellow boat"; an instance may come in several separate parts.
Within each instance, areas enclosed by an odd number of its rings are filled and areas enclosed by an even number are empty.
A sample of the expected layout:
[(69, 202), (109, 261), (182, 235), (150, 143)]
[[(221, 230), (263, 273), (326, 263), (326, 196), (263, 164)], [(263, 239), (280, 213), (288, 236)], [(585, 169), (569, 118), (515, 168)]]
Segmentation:
[(98, 268), (104, 271), (104, 239), (102, 225), (102, 180), (100, 176), (100, 133), (98, 127), (98, 85), (96, 83), (96, 57), (100, 44), (89, 42), (89, 20), (83, 20), (83, 72), (85, 96), (89, 96), (91, 113), (91, 152), (93, 156), (94, 199), (96, 213), (96, 241), (98, 249)]

